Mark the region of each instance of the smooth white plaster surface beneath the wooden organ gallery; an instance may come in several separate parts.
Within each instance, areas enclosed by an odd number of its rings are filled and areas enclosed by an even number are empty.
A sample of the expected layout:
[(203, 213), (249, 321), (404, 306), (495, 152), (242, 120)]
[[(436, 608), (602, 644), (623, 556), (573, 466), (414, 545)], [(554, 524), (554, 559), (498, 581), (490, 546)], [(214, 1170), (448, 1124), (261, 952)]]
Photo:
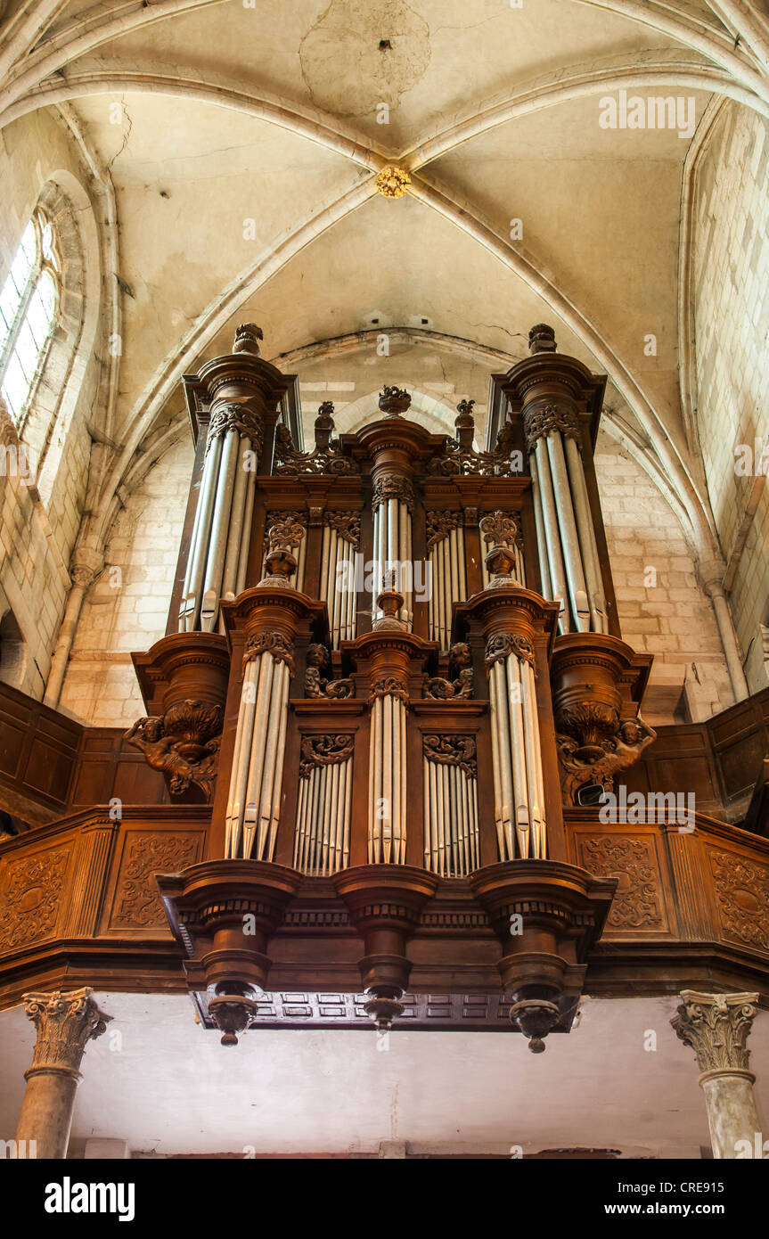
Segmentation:
[[(492, 1032), (373, 1028), (246, 1033), (232, 1049), (172, 995), (97, 995), (114, 1017), (88, 1044), (72, 1139), (128, 1140), (156, 1154), (375, 1152), (416, 1149), (525, 1154), (615, 1149), (623, 1156), (700, 1157), (708, 1131), (693, 1052), (670, 1027), (677, 1000), (593, 999), (578, 1026), (544, 1054)], [(656, 1049), (644, 1049), (649, 1033)], [(111, 1036), (110, 1041), (110, 1035)], [(0, 1014), (0, 1132), (12, 1132), (33, 1027), (22, 1007)], [(769, 1015), (750, 1033), (759, 1118), (769, 1113)]]

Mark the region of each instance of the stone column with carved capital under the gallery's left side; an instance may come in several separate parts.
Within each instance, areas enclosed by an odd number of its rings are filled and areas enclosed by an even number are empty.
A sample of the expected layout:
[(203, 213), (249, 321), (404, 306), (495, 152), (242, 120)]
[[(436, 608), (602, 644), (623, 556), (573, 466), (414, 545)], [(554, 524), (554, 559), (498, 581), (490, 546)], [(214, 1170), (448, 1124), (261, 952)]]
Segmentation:
[(93, 990), (25, 994), (27, 1017), (37, 1028), (16, 1140), (36, 1141), (37, 1157), (64, 1158), (80, 1080), (85, 1042), (100, 1037), (111, 1016), (99, 1011)]

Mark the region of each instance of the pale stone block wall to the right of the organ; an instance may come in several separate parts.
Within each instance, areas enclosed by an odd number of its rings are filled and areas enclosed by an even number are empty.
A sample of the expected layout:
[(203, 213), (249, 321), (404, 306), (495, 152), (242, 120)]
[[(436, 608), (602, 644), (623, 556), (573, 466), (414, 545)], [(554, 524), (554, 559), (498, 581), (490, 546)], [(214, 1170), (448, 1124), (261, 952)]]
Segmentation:
[[(697, 422), (752, 691), (769, 683), (769, 121), (726, 104), (696, 173), (693, 310)], [(743, 445), (741, 449), (739, 445)], [(745, 449), (748, 451), (745, 451)], [(752, 471), (742, 475), (742, 461)], [(736, 467), (738, 466), (738, 467)], [(764, 475), (769, 451), (764, 457)]]

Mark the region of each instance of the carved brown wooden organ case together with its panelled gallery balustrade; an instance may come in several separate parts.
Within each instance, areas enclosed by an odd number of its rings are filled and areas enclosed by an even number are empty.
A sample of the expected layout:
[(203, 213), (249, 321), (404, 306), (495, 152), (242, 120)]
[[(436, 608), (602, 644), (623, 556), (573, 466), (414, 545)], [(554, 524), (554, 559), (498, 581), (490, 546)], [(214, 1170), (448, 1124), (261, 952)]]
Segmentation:
[[(373, 1021), (540, 1052), (586, 990), (755, 986), (769, 843), (700, 812), (684, 831), (599, 813), (656, 768), (593, 471), (604, 379), (539, 325), (494, 377), (489, 450), (472, 401), (431, 435), (385, 387), (355, 434), (322, 404), (305, 451), (260, 338), (240, 327), (185, 377), (168, 627), (131, 655), (147, 716), (120, 736), (0, 703), (19, 762), (45, 745), (69, 771), (0, 847), (4, 1001), (64, 979), (188, 990), (224, 1044)], [(669, 750), (696, 757), (680, 730)], [(9, 805), (30, 777), (5, 779)]]

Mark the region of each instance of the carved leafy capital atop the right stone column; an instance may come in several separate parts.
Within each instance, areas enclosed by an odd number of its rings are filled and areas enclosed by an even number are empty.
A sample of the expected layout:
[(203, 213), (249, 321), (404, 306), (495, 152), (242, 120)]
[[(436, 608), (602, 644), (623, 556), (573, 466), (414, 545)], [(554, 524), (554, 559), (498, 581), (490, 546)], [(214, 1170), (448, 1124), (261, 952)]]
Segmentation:
[(758, 994), (700, 994), (681, 990), (682, 1004), (670, 1021), (676, 1036), (695, 1051), (701, 1072), (747, 1072), (748, 1035)]

